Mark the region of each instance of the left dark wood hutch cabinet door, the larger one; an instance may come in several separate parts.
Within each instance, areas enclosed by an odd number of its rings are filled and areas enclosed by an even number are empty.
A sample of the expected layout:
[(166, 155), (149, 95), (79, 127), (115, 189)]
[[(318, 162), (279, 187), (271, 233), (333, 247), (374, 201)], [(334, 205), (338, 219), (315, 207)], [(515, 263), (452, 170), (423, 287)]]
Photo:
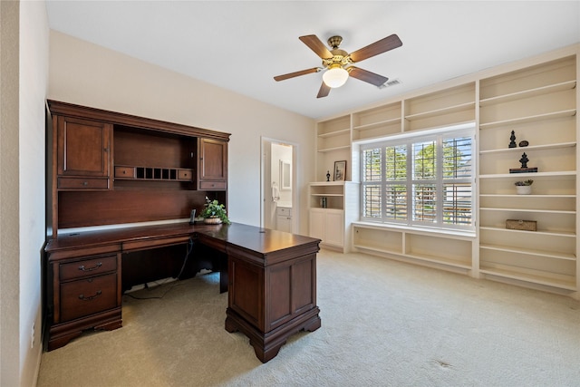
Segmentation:
[(58, 116), (59, 176), (109, 177), (111, 124)]

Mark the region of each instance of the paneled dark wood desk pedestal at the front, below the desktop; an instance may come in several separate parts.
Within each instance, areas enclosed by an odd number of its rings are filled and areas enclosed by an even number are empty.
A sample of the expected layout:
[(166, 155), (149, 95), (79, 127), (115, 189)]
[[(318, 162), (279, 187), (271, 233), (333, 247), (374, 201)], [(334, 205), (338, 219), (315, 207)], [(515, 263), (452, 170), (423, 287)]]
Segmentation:
[(227, 332), (246, 334), (262, 363), (286, 339), (321, 326), (316, 306), (318, 241), (267, 256), (228, 251)]

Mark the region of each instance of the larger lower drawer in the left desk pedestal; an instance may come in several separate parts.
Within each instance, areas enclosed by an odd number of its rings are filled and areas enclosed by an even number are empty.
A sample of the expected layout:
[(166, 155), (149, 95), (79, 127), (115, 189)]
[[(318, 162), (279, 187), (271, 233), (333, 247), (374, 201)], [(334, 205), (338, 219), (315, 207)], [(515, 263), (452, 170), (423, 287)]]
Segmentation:
[(61, 284), (60, 322), (117, 306), (117, 273)]

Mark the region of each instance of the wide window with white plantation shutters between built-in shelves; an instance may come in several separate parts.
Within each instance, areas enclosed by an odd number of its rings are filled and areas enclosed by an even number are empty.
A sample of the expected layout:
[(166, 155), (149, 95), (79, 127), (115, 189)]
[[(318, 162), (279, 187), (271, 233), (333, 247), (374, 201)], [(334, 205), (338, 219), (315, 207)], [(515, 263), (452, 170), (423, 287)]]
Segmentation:
[(362, 145), (362, 220), (473, 230), (474, 125)]

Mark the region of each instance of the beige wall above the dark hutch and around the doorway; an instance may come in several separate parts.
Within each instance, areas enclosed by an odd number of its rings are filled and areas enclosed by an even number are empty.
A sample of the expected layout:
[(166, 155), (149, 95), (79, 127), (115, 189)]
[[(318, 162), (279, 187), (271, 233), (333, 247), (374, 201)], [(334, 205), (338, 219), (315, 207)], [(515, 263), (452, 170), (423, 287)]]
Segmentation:
[(314, 121), (56, 31), (48, 98), (226, 131), (228, 212), (260, 225), (260, 136), (297, 143), (300, 232), (307, 233), (306, 184), (314, 179)]

